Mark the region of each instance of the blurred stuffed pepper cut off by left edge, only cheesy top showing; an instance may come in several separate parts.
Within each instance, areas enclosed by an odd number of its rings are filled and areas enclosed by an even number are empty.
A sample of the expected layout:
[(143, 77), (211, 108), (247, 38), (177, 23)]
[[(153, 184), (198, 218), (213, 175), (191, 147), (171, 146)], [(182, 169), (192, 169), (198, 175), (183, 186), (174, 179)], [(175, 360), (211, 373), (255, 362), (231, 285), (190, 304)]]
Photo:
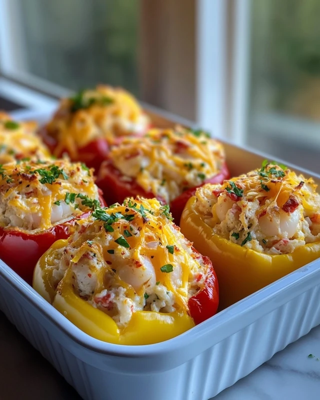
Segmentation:
[(27, 157), (48, 157), (49, 150), (35, 134), (36, 129), (34, 121), (16, 122), (0, 111), (0, 164)]

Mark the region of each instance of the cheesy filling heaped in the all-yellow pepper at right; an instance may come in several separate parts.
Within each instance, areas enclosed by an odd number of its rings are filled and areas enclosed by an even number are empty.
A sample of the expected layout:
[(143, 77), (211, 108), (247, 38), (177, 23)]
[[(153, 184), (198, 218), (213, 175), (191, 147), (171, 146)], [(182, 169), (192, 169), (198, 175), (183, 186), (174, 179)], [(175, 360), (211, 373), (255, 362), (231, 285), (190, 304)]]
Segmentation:
[(309, 178), (284, 165), (262, 167), (197, 189), (195, 207), (213, 232), (269, 254), (320, 240), (320, 194)]

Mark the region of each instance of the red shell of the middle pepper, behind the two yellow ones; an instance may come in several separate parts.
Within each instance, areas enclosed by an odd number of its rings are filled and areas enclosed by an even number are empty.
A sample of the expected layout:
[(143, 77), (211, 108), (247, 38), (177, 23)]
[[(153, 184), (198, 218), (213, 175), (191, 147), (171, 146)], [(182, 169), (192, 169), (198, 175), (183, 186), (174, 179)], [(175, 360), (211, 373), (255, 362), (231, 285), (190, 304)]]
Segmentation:
[[(222, 181), (228, 179), (229, 176), (229, 170), (226, 163), (224, 163), (218, 173), (205, 179), (202, 184), (222, 183)], [(165, 203), (163, 198), (154, 196), (152, 192), (146, 192), (134, 178), (126, 180), (125, 176), (112, 165), (111, 161), (104, 161), (101, 164), (95, 183), (102, 189), (104, 199), (108, 204), (113, 204), (115, 202), (121, 204), (126, 197), (136, 197), (137, 195), (145, 198), (156, 197), (159, 201)], [(170, 211), (176, 223), (180, 221), (180, 216), (187, 200), (195, 193), (196, 188), (199, 186), (185, 190), (170, 202)]]

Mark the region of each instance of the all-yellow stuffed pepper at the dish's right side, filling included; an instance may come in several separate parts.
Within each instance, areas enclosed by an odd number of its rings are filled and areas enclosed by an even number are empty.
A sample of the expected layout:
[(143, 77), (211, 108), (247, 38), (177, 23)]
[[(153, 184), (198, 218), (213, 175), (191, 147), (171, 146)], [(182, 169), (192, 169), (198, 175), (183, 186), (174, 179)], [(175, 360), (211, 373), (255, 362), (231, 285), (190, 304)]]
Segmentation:
[(264, 161), (200, 187), (181, 231), (214, 260), (224, 308), (320, 256), (320, 194), (311, 178)]

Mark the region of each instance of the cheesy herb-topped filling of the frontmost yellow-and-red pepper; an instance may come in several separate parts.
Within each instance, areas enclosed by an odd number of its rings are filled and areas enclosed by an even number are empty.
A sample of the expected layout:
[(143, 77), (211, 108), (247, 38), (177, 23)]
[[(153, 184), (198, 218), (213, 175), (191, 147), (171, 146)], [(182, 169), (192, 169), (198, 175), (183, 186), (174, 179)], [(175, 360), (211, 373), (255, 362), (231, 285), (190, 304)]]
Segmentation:
[(124, 327), (137, 310), (188, 309), (207, 265), (156, 199), (130, 199), (76, 222), (53, 250), (51, 283), (72, 277), (75, 292)]

